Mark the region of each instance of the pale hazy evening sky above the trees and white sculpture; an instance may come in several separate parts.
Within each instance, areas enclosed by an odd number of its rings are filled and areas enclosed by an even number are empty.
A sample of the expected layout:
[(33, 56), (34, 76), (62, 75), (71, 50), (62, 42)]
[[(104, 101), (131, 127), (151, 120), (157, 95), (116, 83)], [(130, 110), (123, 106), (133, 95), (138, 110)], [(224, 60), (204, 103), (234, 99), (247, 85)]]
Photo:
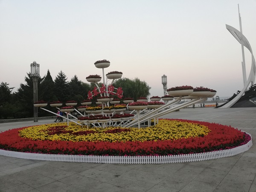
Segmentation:
[[(226, 24), (242, 30), (256, 52), (256, 0), (0, 0), (0, 82), (25, 83), (30, 64), (41, 77), (62, 72), (87, 82), (107, 59), (122, 78), (139, 78), (151, 96), (167, 87), (208, 87), (230, 97), (243, 88), (241, 45)], [(247, 78), (251, 55), (245, 48)], [(85, 93), (86, 94), (86, 93)]]

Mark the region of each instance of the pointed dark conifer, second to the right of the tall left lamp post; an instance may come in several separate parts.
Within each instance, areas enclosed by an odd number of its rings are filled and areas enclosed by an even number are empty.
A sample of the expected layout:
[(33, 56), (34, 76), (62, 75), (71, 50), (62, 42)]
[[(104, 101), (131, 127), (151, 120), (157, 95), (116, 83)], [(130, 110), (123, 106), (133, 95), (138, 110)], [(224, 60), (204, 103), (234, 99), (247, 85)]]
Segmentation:
[(67, 81), (67, 76), (60, 71), (54, 80), (55, 84), (55, 95), (59, 101), (66, 102), (69, 100), (70, 91), (68, 89), (69, 84)]

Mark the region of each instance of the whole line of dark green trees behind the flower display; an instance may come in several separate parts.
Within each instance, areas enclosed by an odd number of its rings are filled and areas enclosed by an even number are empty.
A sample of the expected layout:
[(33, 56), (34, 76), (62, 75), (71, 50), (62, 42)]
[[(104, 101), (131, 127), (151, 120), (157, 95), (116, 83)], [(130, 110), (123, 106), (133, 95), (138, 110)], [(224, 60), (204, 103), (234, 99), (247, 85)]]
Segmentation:
[[(113, 82), (113, 86), (122, 87), (123, 98), (131, 97), (134, 100), (137, 100), (140, 96), (148, 97), (151, 89), (145, 81), (138, 78), (117, 79)], [(79, 80), (76, 75), (70, 81), (67, 81), (67, 76), (62, 71), (53, 80), (48, 70), (43, 78), (38, 78), (38, 100), (61, 101), (63, 103), (75, 100), (79, 106), (81, 101), (87, 99), (87, 93), (92, 91), (94, 87), (96, 87), (94, 83), (85, 83)], [(14, 88), (9, 87), (7, 82), (1, 82), (0, 84), (0, 118), (33, 117), (33, 81), (30, 73), (25, 76), (25, 84), (21, 83), (17, 91), (12, 93)], [(116, 97), (116, 99), (118, 98)], [(95, 104), (96, 98), (94, 97), (92, 101)], [(45, 108), (50, 111), (55, 110), (49, 105)], [(51, 116), (51, 113), (38, 110), (38, 116)]]

